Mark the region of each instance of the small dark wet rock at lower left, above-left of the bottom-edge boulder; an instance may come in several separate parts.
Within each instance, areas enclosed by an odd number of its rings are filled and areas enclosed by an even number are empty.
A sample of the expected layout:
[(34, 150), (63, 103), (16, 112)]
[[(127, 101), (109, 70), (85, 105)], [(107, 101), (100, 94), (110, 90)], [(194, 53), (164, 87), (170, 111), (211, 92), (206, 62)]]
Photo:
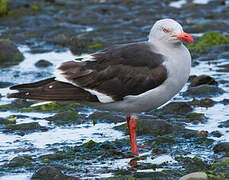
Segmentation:
[(9, 162), (8, 167), (32, 166), (32, 163), (30, 156), (17, 156)]

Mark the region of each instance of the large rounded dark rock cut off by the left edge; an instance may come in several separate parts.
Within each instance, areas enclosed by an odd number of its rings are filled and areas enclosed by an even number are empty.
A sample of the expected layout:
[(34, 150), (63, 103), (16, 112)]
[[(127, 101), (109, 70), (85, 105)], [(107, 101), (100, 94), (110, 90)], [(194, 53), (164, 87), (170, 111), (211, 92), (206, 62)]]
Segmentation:
[(0, 67), (16, 65), (22, 60), (22, 53), (12, 41), (0, 40)]

